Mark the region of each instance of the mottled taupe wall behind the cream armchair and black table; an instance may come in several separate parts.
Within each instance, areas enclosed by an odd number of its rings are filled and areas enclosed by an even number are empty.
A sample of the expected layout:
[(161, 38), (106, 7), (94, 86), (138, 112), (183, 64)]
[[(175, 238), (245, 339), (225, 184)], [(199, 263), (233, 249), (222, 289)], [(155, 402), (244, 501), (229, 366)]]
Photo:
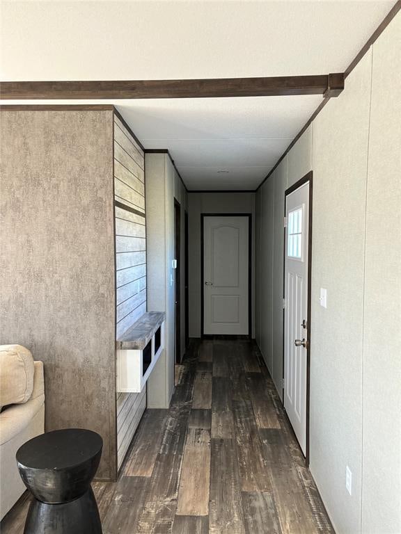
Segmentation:
[(112, 111), (1, 111), (0, 343), (45, 363), (46, 430), (116, 458)]

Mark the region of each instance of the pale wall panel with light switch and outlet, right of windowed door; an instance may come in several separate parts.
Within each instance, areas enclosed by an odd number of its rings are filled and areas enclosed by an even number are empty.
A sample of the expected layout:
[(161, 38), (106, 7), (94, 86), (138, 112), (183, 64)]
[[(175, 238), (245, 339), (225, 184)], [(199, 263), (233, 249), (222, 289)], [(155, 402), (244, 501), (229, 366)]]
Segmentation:
[[(338, 533), (359, 532), (370, 52), (313, 123), (310, 470)], [(327, 309), (319, 305), (327, 289)], [(345, 489), (352, 471), (352, 496)]]

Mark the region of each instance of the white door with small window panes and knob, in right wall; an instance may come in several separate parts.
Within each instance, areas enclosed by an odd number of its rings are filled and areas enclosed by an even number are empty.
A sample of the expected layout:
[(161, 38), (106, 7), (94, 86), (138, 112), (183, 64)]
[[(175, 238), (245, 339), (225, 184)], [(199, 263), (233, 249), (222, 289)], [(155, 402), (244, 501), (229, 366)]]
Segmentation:
[(306, 454), (309, 182), (286, 197), (284, 407)]

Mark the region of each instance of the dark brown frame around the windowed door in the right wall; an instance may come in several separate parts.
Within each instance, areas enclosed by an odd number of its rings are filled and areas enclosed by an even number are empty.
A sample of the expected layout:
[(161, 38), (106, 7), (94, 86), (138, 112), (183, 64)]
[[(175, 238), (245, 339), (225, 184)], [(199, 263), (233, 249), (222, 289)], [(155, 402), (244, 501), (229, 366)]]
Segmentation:
[[(301, 186), (309, 182), (309, 213), (308, 213), (308, 348), (306, 349), (306, 455), (305, 463), (309, 466), (309, 419), (310, 419), (310, 341), (311, 341), (311, 307), (312, 307), (312, 216), (313, 216), (313, 171), (310, 170), (304, 177), (295, 182), (284, 193), (284, 216), (287, 213), (287, 197)], [(284, 228), (283, 246), (283, 299), (285, 299), (285, 258), (287, 254), (287, 227)], [(283, 383), (285, 378), (285, 309), (283, 309)], [(284, 406), (284, 387), (283, 387)], [(292, 428), (292, 427), (291, 427)], [(295, 435), (295, 432), (294, 432)], [(296, 436), (295, 436), (296, 437)], [(298, 441), (298, 440), (297, 440)]]

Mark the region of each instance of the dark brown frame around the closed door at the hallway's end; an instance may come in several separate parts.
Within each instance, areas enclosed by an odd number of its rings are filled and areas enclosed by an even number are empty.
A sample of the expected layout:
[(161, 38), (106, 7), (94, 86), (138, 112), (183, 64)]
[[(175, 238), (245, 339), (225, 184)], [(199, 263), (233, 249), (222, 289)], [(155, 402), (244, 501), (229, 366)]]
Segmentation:
[[(248, 218), (248, 335), (252, 339), (252, 213), (201, 213), (201, 338), (209, 337), (204, 333), (205, 294), (203, 292), (204, 280), (204, 220), (205, 217), (247, 217)], [(214, 336), (212, 336), (214, 337)]]

